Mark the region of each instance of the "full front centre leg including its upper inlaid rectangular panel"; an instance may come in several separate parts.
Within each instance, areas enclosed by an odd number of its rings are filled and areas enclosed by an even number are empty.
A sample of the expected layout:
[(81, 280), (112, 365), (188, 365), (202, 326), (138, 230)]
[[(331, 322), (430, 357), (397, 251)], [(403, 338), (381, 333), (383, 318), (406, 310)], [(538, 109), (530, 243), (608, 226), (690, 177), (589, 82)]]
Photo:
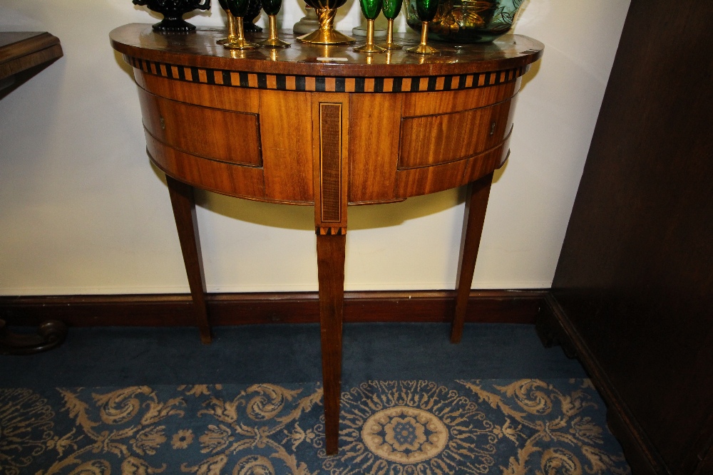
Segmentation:
[(327, 455), (334, 455), (339, 451), (339, 395), (342, 387), (349, 95), (315, 93), (312, 99), (314, 226), (317, 230), (324, 435)]

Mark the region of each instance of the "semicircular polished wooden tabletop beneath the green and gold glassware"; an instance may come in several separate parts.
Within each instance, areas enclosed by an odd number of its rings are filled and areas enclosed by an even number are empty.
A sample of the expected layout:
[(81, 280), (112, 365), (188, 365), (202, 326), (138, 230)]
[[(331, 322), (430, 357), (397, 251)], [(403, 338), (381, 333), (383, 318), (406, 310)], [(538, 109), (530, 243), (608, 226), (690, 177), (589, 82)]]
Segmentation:
[[(154, 33), (148, 24), (129, 24), (111, 31), (110, 38), (116, 51), (159, 63), (226, 71), (341, 77), (410, 78), (491, 73), (527, 66), (542, 56), (544, 48), (542, 43), (527, 36), (506, 35), (490, 44), (456, 45), (434, 41), (434, 46), (441, 51), (438, 55), (421, 56), (403, 49), (368, 56), (356, 53), (353, 46), (299, 43), (291, 32), (283, 30), (279, 35), (291, 43), (290, 48), (237, 52), (215, 44), (225, 35), (224, 28), (199, 28), (188, 34), (159, 34)], [(246, 38), (250, 41), (265, 39), (267, 32), (246, 33)], [(396, 33), (394, 38), (405, 46), (419, 43), (415, 34)], [(236, 58), (240, 61), (235, 61)], [(317, 58), (346, 58), (347, 61), (325, 62)]]

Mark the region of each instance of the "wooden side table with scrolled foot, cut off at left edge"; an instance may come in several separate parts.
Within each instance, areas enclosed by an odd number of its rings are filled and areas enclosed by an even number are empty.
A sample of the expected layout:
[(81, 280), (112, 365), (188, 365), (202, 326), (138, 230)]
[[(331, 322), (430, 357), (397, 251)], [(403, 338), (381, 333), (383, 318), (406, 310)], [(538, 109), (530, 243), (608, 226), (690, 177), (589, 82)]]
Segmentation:
[[(44, 31), (0, 31), (0, 99), (62, 57), (59, 38)], [(29, 355), (55, 348), (67, 328), (58, 320), (43, 322), (36, 335), (12, 333), (0, 319), (0, 355)]]

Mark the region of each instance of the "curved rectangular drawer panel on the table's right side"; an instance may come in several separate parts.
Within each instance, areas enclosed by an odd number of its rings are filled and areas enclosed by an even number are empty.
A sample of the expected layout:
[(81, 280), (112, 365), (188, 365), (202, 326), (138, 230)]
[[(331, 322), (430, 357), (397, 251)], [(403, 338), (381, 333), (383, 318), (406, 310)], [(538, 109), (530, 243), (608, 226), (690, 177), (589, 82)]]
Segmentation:
[(458, 113), (401, 119), (399, 169), (462, 160), (495, 147), (511, 130), (511, 100)]

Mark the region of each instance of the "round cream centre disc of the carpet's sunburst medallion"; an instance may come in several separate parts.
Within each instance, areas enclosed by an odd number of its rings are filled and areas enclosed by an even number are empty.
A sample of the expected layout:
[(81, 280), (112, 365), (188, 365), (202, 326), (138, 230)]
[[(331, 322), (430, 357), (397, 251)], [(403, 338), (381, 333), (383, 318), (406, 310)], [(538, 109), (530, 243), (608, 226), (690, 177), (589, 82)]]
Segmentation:
[(386, 460), (415, 464), (446, 448), (448, 429), (430, 412), (392, 407), (369, 417), (361, 438), (369, 450)]

